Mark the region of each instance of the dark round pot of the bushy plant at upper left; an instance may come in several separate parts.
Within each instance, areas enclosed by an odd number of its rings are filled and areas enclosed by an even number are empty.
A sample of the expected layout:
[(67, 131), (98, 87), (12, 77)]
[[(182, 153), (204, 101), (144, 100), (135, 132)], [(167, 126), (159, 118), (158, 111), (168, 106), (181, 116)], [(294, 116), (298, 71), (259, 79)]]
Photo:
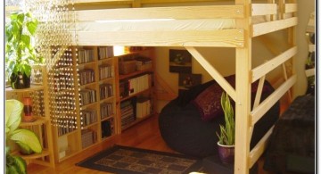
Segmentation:
[(12, 74), (10, 77), (11, 86), (13, 89), (23, 89), (30, 87), (30, 77), (28, 77), (25, 73), (21, 74)]

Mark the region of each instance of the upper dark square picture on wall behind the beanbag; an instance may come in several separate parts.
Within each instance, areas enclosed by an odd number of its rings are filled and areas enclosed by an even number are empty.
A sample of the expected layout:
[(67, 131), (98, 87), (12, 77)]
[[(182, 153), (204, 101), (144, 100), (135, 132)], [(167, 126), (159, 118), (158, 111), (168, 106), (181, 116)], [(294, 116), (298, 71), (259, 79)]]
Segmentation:
[(192, 54), (187, 50), (169, 49), (169, 72), (192, 73)]

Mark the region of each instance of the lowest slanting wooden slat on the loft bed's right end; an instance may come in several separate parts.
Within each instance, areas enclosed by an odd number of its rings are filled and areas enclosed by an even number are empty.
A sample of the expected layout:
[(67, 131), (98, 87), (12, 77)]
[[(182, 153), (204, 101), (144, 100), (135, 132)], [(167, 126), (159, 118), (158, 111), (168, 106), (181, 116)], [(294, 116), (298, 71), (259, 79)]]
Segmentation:
[(249, 156), (249, 164), (250, 168), (259, 160), (259, 157), (264, 153), (264, 150), (268, 145), (268, 138), (271, 136), (274, 126), (268, 129), (268, 132), (259, 140), (259, 143), (254, 146), (254, 148), (250, 152)]

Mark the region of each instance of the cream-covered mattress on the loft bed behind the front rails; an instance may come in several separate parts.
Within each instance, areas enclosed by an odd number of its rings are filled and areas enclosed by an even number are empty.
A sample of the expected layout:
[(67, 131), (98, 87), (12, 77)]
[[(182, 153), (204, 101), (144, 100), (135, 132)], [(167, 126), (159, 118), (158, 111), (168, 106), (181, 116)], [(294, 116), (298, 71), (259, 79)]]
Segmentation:
[[(252, 18), (252, 23), (268, 21), (265, 16)], [(198, 20), (117, 20), (117, 21), (79, 21), (76, 31), (156, 31), (156, 30), (213, 30), (235, 29), (235, 19), (198, 19)], [(72, 29), (72, 28), (70, 28)]]

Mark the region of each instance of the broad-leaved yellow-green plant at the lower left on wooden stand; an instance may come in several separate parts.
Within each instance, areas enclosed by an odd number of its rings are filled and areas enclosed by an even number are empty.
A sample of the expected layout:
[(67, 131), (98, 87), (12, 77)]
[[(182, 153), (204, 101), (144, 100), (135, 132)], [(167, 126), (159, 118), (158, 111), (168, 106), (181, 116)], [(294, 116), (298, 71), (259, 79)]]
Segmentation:
[(5, 101), (5, 170), (7, 174), (27, 173), (26, 162), (18, 155), (13, 155), (10, 141), (16, 143), (21, 153), (41, 153), (42, 146), (37, 135), (29, 129), (19, 128), (23, 104), (18, 100)]

